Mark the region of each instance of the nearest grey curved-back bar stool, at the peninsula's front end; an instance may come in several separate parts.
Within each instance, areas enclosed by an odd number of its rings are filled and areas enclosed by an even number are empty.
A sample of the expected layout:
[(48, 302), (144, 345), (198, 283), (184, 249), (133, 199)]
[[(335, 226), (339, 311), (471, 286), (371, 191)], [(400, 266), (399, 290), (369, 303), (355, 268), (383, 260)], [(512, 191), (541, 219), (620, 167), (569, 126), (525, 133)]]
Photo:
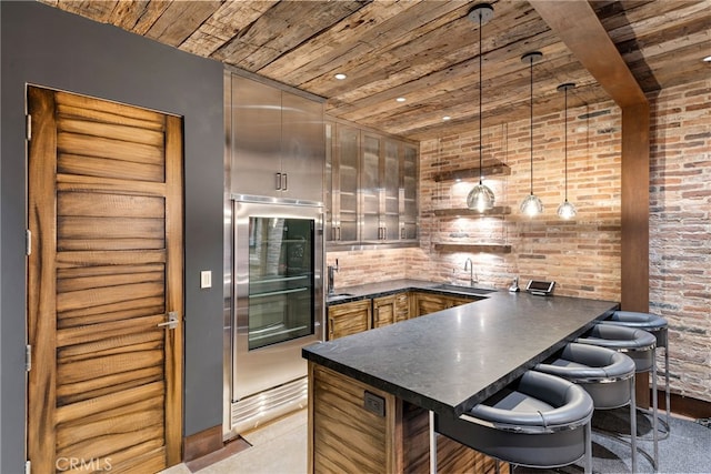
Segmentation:
[(434, 431), (528, 467), (560, 467), (584, 457), (584, 472), (591, 473), (592, 412), (592, 399), (582, 387), (528, 371), (459, 417), (434, 414)]

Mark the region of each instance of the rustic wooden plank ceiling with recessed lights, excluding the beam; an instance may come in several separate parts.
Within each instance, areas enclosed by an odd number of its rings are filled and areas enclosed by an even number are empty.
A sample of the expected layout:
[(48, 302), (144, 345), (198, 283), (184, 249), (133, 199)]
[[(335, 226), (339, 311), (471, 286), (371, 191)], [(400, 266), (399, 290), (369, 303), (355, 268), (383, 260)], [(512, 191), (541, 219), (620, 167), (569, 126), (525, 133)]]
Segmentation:
[[(479, 119), (479, 31), (467, 18), (479, 1), (41, 1), (321, 95), (331, 117), (413, 140), (472, 130)], [(573, 1), (585, 0), (560, 9)], [(563, 108), (563, 82), (577, 84), (570, 107), (609, 100), (528, 1), (491, 4), (494, 18), (482, 30), (484, 127), (530, 113), (521, 56), (533, 50), (543, 53), (533, 67), (535, 115)], [(644, 92), (711, 75), (703, 61), (711, 0), (590, 4)]]

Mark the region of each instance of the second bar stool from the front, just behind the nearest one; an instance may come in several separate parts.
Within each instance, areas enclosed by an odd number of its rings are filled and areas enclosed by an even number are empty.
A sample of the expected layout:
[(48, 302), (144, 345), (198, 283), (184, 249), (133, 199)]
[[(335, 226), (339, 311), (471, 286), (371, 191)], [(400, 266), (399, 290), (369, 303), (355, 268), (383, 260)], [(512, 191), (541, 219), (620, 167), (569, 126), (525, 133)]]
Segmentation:
[(611, 349), (571, 342), (553, 360), (535, 365), (534, 370), (582, 386), (595, 410), (630, 405), (632, 472), (637, 472), (634, 361)]

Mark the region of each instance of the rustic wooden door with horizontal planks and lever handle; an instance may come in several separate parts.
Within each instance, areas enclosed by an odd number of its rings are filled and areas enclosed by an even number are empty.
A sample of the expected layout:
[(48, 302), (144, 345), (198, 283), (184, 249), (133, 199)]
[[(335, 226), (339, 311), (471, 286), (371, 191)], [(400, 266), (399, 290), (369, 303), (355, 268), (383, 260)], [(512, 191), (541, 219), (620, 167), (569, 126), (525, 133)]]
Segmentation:
[(160, 471), (181, 461), (181, 119), (34, 87), (28, 109), (32, 473)]

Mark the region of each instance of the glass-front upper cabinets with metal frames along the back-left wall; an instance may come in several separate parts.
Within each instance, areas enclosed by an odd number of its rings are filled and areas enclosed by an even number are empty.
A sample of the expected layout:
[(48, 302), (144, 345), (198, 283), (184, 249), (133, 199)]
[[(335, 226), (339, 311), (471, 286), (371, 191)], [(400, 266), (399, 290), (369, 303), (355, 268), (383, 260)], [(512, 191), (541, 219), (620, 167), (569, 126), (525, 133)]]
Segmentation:
[(413, 244), (418, 145), (327, 122), (327, 242)]

